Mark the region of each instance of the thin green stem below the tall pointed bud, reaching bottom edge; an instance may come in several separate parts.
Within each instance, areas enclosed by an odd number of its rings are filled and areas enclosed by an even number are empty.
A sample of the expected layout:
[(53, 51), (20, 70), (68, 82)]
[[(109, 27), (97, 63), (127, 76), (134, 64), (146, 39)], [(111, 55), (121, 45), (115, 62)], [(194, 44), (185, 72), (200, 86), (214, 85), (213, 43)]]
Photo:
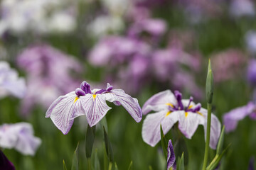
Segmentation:
[(207, 114), (207, 131), (206, 131), (206, 149), (203, 159), (203, 170), (206, 170), (207, 162), (208, 162), (208, 152), (209, 152), (209, 144), (210, 144), (210, 118), (211, 118), (211, 104), (207, 103), (208, 114)]

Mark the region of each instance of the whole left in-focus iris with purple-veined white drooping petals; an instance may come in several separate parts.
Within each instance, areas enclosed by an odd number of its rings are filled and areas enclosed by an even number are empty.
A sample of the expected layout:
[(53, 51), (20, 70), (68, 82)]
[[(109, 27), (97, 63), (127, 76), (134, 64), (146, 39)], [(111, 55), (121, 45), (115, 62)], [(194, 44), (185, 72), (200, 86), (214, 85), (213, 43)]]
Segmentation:
[(106, 101), (122, 105), (137, 123), (142, 120), (142, 109), (136, 98), (121, 89), (113, 89), (110, 84), (107, 84), (106, 89), (91, 90), (86, 81), (75, 91), (57, 98), (48, 108), (46, 118), (51, 118), (54, 125), (66, 135), (74, 119), (80, 115), (86, 115), (90, 127), (96, 125), (111, 109)]

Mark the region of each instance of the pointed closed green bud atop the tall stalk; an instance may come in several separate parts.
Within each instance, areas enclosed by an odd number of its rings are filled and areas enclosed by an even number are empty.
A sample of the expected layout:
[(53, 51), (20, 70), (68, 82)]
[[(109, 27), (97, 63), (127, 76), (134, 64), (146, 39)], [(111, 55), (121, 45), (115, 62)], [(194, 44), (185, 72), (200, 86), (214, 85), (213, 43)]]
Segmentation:
[(206, 77), (206, 100), (207, 103), (212, 103), (213, 101), (213, 72), (211, 69), (210, 59), (208, 63), (208, 72)]

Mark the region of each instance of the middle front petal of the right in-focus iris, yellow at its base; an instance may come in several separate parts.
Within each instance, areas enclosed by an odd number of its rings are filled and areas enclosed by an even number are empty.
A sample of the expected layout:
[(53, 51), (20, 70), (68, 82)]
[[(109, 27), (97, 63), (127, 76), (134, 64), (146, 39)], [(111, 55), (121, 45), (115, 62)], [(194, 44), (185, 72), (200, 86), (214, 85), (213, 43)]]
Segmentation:
[(203, 115), (198, 113), (181, 111), (178, 117), (178, 129), (188, 139), (191, 139), (198, 125), (204, 123)]

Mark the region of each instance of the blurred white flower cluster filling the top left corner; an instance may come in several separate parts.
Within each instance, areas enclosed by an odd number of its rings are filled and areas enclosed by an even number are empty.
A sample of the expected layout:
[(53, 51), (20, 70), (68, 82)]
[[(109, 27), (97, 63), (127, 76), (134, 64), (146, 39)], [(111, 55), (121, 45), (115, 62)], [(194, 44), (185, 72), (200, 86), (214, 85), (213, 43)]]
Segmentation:
[(23, 33), (69, 32), (75, 28), (75, 4), (69, 0), (3, 0), (0, 35), (6, 30)]

